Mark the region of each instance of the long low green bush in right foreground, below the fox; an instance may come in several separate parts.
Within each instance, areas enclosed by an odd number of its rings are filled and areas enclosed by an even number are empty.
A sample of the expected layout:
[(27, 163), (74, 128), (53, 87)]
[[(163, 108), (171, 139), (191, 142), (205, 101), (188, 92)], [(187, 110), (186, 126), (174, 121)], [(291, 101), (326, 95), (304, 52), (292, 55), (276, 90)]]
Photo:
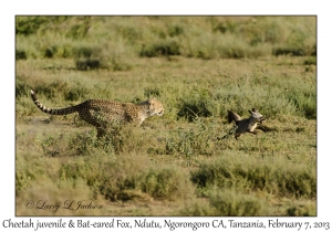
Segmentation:
[[(246, 164), (246, 166), (243, 165)], [(191, 180), (199, 188), (218, 186), (220, 188), (250, 188), (280, 196), (314, 198), (317, 196), (315, 169), (305, 165), (288, 167), (237, 157), (219, 158), (204, 162), (191, 173)]]

